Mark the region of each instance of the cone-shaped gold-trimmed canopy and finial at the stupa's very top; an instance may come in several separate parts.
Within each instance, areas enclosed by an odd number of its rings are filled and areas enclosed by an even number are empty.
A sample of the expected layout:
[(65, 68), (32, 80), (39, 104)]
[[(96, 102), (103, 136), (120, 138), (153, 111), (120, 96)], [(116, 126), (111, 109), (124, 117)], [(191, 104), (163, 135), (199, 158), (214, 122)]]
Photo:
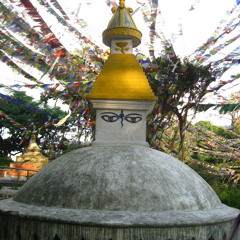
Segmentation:
[(111, 47), (111, 40), (119, 38), (132, 39), (133, 47), (141, 43), (142, 33), (132, 19), (132, 12), (132, 8), (126, 8), (125, 0), (119, 1), (118, 8), (112, 8), (113, 17), (102, 34), (104, 44)]

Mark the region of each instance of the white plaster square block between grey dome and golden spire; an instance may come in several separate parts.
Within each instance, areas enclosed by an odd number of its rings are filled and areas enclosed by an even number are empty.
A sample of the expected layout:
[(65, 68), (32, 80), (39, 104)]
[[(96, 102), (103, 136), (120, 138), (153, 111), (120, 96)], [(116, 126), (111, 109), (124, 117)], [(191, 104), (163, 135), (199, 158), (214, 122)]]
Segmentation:
[[(106, 143), (129, 144), (148, 146), (146, 142), (146, 118), (152, 109), (154, 101), (137, 100), (91, 100), (96, 109), (96, 140), (95, 145), (106, 145)], [(119, 116), (121, 112), (124, 117), (117, 121), (107, 122), (102, 116)], [(106, 114), (103, 114), (106, 113)], [(116, 114), (114, 116), (114, 113)], [(129, 114), (140, 114), (142, 120), (136, 123), (126, 121)]]

